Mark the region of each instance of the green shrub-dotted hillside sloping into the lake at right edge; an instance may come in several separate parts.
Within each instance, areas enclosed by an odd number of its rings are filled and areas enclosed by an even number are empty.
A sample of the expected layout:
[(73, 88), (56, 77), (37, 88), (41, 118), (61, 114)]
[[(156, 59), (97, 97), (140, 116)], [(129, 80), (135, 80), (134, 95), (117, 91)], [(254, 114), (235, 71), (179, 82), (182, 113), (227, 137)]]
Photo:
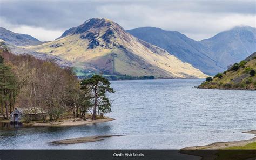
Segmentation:
[(256, 90), (256, 52), (199, 85), (203, 89)]

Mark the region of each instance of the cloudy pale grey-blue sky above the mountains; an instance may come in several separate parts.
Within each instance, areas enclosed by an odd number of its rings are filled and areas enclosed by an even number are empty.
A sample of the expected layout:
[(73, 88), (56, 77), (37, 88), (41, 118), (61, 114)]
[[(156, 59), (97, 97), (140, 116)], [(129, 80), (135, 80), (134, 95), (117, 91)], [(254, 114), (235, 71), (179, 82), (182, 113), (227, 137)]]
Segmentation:
[(0, 27), (52, 41), (90, 18), (125, 30), (152, 26), (203, 40), (235, 26), (256, 27), (256, 1), (13, 1), (0, 0)]

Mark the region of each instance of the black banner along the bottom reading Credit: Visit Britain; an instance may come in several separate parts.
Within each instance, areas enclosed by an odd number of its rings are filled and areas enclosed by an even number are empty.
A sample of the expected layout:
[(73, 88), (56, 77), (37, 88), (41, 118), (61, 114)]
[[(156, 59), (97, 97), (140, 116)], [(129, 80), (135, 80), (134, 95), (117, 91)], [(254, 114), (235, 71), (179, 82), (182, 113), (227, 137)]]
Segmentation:
[(0, 159), (255, 159), (256, 150), (0, 150)]

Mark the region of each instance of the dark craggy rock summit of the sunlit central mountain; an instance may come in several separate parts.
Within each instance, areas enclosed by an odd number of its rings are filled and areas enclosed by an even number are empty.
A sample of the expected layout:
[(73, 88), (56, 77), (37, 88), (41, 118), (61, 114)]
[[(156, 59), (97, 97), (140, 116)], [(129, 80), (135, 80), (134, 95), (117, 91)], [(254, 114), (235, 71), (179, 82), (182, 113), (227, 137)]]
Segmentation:
[(87, 49), (95, 49), (97, 47), (105, 49), (122, 48), (122, 43), (131, 41), (130, 34), (124, 28), (106, 18), (88, 19), (82, 25), (66, 30), (57, 39), (69, 35), (78, 35), (80, 39), (89, 41)]

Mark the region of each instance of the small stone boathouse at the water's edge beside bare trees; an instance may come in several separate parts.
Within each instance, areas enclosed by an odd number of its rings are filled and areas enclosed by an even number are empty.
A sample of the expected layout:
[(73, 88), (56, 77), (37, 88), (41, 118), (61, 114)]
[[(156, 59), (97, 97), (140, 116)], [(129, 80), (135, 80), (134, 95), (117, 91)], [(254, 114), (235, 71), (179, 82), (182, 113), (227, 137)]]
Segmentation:
[(45, 120), (46, 112), (37, 107), (15, 108), (15, 110), (10, 114), (10, 119), (12, 123)]

